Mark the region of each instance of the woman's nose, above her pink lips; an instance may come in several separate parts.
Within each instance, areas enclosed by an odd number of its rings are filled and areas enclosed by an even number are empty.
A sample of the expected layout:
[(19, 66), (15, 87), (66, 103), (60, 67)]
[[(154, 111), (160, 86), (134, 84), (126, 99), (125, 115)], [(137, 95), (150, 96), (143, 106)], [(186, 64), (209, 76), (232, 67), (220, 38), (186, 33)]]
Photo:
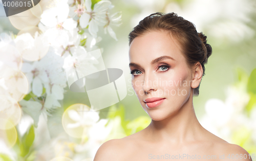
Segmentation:
[(157, 90), (158, 81), (154, 74), (145, 74), (143, 82), (143, 91), (145, 94), (151, 93)]

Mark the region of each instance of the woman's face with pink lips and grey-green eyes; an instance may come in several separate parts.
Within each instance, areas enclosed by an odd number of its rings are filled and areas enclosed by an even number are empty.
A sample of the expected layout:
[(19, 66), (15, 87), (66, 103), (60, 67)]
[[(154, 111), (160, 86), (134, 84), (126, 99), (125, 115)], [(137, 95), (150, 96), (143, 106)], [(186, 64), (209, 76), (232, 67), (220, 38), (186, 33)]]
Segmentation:
[(130, 45), (129, 58), (132, 87), (153, 120), (176, 114), (193, 94), (193, 76), (181, 47), (167, 32), (151, 31), (136, 37)]

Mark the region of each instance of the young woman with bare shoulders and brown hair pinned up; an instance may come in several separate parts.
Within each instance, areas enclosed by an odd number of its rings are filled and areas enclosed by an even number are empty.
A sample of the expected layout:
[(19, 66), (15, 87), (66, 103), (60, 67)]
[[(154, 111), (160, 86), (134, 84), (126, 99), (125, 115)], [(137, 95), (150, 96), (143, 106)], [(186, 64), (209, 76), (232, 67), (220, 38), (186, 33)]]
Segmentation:
[(199, 95), (211, 46), (193, 23), (175, 13), (154, 13), (139, 22), (129, 41), (132, 86), (152, 122), (102, 144), (94, 161), (251, 160), (196, 117), (193, 96)]

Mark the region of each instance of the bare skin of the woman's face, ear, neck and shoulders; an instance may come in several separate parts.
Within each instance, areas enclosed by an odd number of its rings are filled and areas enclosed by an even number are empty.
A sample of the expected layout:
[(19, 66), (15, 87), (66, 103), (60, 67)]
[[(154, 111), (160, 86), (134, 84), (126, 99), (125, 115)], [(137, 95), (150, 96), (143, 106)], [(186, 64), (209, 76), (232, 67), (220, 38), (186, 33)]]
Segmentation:
[[(152, 64), (163, 56), (173, 59)], [(133, 89), (152, 122), (131, 136), (102, 144), (94, 161), (252, 160), (245, 149), (229, 144), (199, 123), (193, 93), (201, 82), (203, 69), (200, 63), (192, 70), (188, 68), (176, 39), (164, 31), (150, 31), (133, 40), (129, 57)], [(150, 108), (144, 100), (152, 97), (164, 101)], [(240, 157), (231, 158), (232, 154)]]

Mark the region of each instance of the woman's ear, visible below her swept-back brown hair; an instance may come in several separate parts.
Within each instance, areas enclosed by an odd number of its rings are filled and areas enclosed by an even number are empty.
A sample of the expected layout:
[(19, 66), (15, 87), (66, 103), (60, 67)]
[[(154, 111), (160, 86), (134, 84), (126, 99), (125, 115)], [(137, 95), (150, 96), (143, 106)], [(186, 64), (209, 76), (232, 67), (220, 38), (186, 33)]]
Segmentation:
[(194, 70), (193, 70), (193, 79), (191, 82), (191, 87), (192, 88), (197, 88), (200, 85), (202, 76), (203, 76), (203, 67), (201, 65), (201, 63), (197, 62), (197, 64), (194, 66)]

